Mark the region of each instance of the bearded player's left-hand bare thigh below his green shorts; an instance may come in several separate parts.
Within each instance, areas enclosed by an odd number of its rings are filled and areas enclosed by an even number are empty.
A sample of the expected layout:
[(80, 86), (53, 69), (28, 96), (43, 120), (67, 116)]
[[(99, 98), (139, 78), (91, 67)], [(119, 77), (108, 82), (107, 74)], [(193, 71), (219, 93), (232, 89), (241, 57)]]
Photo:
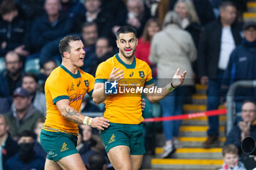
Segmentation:
[(132, 162), (129, 155), (129, 147), (120, 145), (108, 152), (110, 163), (116, 170), (132, 170)]

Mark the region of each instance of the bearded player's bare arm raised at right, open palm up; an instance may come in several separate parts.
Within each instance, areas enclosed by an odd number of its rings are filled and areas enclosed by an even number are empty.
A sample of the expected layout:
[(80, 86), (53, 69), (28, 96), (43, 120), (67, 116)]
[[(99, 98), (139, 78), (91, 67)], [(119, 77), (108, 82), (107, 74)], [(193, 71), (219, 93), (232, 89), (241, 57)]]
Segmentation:
[[(148, 100), (152, 103), (156, 103), (157, 101), (162, 100), (162, 98), (168, 96), (168, 94), (172, 92), (175, 88), (182, 85), (186, 77), (187, 71), (183, 72), (182, 74), (179, 74), (180, 71), (181, 69), (177, 69), (176, 73), (173, 75), (172, 82), (170, 82), (162, 88), (162, 93), (146, 93), (146, 97), (148, 98)], [(154, 83), (151, 85), (146, 85), (145, 88), (152, 88), (153, 86)]]

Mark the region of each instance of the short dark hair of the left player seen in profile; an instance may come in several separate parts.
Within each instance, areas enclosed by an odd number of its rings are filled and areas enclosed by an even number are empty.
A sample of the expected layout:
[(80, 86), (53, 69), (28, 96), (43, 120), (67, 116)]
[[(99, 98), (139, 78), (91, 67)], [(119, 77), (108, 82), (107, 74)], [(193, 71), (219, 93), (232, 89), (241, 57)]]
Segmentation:
[(59, 53), (61, 53), (61, 57), (64, 57), (64, 52), (70, 53), (69, 42), (81, 41), (79, 36), (65, 36), (59, 42)]

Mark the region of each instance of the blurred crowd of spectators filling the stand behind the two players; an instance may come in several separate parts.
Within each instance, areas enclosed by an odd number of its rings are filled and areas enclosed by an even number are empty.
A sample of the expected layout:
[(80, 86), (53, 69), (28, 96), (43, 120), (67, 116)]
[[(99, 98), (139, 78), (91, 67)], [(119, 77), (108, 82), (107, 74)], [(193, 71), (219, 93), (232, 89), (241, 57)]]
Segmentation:
[[(0, 72), (0, 170), (43, 169), (46, 153), (39, 132), (46, 115), (44, 83), (61, 63), (59, 41), (64, 36), (80, 36), (86, 50), (81, 69), (95, 75), (99, 63), (118, 53), (118, 28), (135, 27), (135, 57), (148, 63), (159, 86), (177, 68), (187, 70), (184, 85), (160, 104), (145, 101), (144, 117), (181, 115), (195, 83), (208, 85), (207, 110), (212, 110), (225, 105), (234, 82), (256, 80), (256, 23), (243, 23), (245, 11), (243, 0), (0, 0), (0, 66), (4, 65)], [(236, 92), (238, 118), (225, 145), (235, 144), (240, 156), (244, 136), (256, 137), (255, 99), (253, 88)], [(89, 96), (84, 98), (81, 112), (103, 110)], [(163, 123), (162, 158), (181, 147), (180, 124), (179, 120)], [(206, 148), (218, 141), (219, 117), (208, 117), (208, 125)], [(150, 154), (154, 154), (152, 131), (147, 124)], [(108, 158), (97, 130), (80, 126), (78, 151), (89, 169), (111, 169), (106, 166)]]

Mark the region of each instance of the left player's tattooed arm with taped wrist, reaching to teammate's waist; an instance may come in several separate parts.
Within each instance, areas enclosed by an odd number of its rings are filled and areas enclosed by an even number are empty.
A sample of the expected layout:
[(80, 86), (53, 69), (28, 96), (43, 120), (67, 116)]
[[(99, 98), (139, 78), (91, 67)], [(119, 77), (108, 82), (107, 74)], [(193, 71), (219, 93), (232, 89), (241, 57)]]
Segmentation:
[(99, 130), (104, 130), (104, 128), (108, 128), (109, 120), (106, 120), (104, 117), (91, 118), (80, 114), (78, 110), (69, 106), (68, 99), (62, 99), (60, 101), (57, 101), (56, 107), (59, 109), (59, 112), (61, 112), (61, 115), (63, 117), (66, 117), (72, 122), (84, 125), (91, 125), (91, 127), (98, 128)]

